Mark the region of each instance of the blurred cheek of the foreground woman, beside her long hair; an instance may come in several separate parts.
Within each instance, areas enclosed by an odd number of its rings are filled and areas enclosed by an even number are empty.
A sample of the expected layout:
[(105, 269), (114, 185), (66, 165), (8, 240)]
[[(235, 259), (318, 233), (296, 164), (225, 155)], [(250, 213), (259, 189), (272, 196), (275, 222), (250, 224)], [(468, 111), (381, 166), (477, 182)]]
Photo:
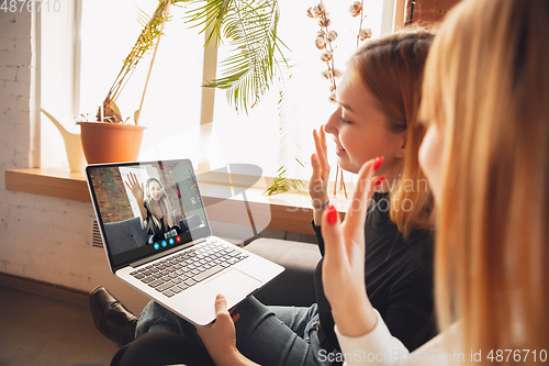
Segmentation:
[(419, 147), (419, 166), (422, 167), (435, 196), (435, 202), (440, 202), (440, 168), (442, 160), (442, 136), (439, 129), (432, 123), (425, 133)]

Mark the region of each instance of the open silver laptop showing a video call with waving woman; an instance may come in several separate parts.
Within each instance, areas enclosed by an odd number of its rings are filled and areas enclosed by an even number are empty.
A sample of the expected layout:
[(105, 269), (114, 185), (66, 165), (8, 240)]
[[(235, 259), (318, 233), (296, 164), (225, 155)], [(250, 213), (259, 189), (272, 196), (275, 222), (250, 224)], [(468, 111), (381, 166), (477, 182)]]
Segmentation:
[(231, 309), (284, 270), (212, 235), (189, 159), (86, 175), (112, 273), (193, 324), (215, 319), (217, 293)]

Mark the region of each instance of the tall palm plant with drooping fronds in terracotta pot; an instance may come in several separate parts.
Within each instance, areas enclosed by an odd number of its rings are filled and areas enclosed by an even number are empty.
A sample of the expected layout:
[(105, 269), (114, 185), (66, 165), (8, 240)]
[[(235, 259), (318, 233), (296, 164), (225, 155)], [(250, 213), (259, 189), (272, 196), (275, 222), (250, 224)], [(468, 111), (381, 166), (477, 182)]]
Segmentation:
[[(277, 36), (279, 20), (277, 0), (159, 0), (150, 18), (141, 14), (143, 30), (124, 59), (123, 67), (99, 107), (94, 120), (79, 122), (88, 163), (137, 158), (145, 129), (138, 125), (139, 114), (156, 51), (164, 26), (169, 20), (170, 7), (183, 4), (187, 8), (186, 21), (191, 26), (200, 27), (200, 33), (206, 32), (204, 46), (213, 43), (217, 47), (223, 43), (229, 47), (228, 56), (221, 62), (222, 76), (206, 81), (203, 86), (225, 90), (227, 101), (236, 111), (247, 111), (254, 107), (269, 90), (277, 69), (283, 67), (285, 58)], [(123, 119), (116, 99), (139, 60), (153, 48), (153, 59), (139, 109), (134, 113), (134, 123), (125, 123), (128, 119)], [(99, 130), (107, 131), (99, 133)], [(121, 152), (122, 142), (130, 141), (128, 137), (115, 136), (123, 130), (135, 136), (137, 147), (131, 148), (132, 153), (125, 156), (107, 157), (105, 155), (110, 153)], [(90, 136), (92, 138), (88, 141), (87, 137)], [(92, 153), (89, 153), (89, 149), (98, 152), (101, 162), (91, 157)]]

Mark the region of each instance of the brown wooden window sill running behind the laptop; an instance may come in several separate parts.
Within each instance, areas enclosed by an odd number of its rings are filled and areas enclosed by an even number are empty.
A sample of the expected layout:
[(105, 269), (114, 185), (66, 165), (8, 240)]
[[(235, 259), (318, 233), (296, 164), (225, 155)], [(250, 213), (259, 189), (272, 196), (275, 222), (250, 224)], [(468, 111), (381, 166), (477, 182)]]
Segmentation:
[[(200, 189), (205, 206), (226, 201), (222, 210), (208, 212), (210, 220), (238, 223), (231, 214), (232, 203), (238, 204), (237, 199), (226, 200), (222, 191), (225, 191), (219, 184), (201, 181)], [(11, 191), (55, 197), (80, 202), (91, 202), (86, 181), (85, 173), (70, 173), (68, 168), (47, 169), (16, 169), (5, 170), (5, 189)], [(301, 234), (312, 234), (311, 220), (313, 209), (311, 200), (306, 193), (289, 192), (274, 197), (264, 196), (262, 188), (248, 188), (246, 197), (249, 209), (254, 211), (254, 206), (265, 209), (270, 208), (271, 220), (267, 229), (289, 231)]]

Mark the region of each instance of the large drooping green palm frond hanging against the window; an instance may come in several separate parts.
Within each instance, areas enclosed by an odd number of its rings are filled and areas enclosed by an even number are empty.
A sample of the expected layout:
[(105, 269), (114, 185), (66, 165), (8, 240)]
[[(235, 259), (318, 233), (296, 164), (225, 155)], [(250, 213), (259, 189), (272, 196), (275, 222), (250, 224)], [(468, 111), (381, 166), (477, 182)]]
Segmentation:
[[(195, 1), (199, 2), (199, 1)], [(254, 107), (273, 82), (277, 58), (285, 63), (277, 36), (277, 0), (211, 0), (189, 10), (188, 22), (211, 26), (206, 44), (217, 46), (228, 40), (229, 54), (220, 65), (221, 77), (206, 80), (204, 87), (225, 90), (227, 101), (237, 111)], [(284, 45), (285, 46), (285, 45)]]

